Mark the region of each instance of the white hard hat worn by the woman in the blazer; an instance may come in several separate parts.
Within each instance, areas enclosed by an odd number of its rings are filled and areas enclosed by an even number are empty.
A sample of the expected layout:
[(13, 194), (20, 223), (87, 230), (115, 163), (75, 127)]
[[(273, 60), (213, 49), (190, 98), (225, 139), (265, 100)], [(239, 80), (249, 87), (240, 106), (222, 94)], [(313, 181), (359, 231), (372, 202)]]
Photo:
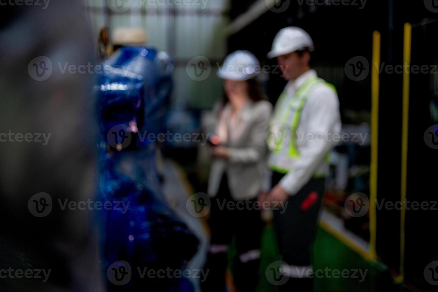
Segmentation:
[(236, 51), (226, 56), (217, 75), (222, 79), (244, 81), (256, 77), (261, 71), (260, 62), (248, 51)]

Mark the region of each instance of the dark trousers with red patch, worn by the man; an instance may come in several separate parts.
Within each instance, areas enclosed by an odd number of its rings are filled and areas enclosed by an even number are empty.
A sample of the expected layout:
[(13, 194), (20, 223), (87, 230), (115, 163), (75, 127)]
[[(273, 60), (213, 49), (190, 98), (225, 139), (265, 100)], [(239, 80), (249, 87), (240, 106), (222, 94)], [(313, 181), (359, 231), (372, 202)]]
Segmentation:
[[(274, 172), (272, 187), (284, 174)], [(294, 196), (288, 198), (284, 210), (274, 211), (274, 227), (282, 260), (294, 271), (311, 266), (311, 248), (324, 195), (324, 178), (313, 178)], [(283, 214), (281, 214), (281, 212)], [(295, 268), (296, 267), (296, 268)], [(313, 291), (313, 278), (290, 276), (279, 291)]]

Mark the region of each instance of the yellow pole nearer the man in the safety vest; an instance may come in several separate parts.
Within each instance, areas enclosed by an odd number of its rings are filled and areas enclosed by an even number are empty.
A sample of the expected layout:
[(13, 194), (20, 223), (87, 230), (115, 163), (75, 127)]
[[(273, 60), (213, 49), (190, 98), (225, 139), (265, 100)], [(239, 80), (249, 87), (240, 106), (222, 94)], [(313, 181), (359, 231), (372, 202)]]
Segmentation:
[(376, 260), (376, 199), (379, 130), (380, 33), (373, 32), (373, 62), (371, 66), (371, 163), (370, 163), (370, 256)]

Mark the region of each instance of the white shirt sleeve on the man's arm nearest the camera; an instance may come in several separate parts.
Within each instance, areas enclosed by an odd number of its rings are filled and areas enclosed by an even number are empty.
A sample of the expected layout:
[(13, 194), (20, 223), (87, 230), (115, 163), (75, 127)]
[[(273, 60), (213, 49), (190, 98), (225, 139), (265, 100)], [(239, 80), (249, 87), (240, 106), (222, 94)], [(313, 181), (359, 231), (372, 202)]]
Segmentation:
[(290, 195), (295, 195), (312, 178), (327, 153), (336, 145), (331, 137), (335, 133), (339, 134), (341, 119), (338, 96), (332, 88), (321, 84), (311, 91), (301, 113), (298, 129), (300, 135), (304, 133), (314, 136), (310, 139), (304, 136), (305, 143), (298, 147), (300, 156), (293, 161), (292, 170), (279, 182)]

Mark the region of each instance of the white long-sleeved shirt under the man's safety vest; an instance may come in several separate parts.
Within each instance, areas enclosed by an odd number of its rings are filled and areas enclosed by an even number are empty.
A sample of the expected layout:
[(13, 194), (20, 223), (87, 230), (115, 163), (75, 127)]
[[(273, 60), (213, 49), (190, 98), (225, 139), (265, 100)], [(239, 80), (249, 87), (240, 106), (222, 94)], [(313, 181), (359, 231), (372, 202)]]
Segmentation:
[[(314, 70), (309, 70), (295, 81), (289, 81), (285, 87), (284, 104), (293, 98), (308, 78), (316, 76)], [(277, 102), (274, 113), (278, 106)], [(276, 124), (276, 121), (273, 120), (272, 124)], [(290, 148), (286, 147), (280, 149), (277, 155), (271, 154), (268, 158), (269, 165), (281, 165), (282, 161), (283, 164), (285, 160), (290, 161), (287, 167), (289, 172), (279, 182), (287, 193), (296, 194), (315, 174), (326, 176), (329, 173), (329, 165), (325, 162), (325, 156), (336, 145), (332, 135), (339, 134), (340, 130), (339, 99), (336, 92), (328, 84), (315, 84), (302, 109), (297, 133), (291, 133), (291, 135), (297, 135), (294, 143), (300, 153), (299, 157), (288, 159)], [(311, 134), (315, 136), (312, 138)], [(306, 138), (306, 135), (309, 138)]]

